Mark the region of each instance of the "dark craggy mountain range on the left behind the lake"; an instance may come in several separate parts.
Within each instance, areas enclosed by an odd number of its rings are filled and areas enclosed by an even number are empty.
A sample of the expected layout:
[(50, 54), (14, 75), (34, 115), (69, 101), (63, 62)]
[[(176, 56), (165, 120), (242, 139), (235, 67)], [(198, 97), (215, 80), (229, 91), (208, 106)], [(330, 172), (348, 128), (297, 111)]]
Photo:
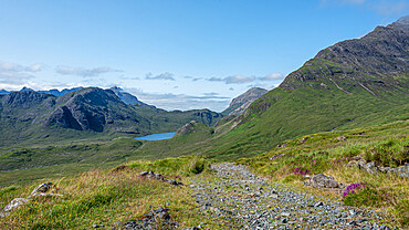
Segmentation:
[(139, 136), (172, 132), (192, 119), (213, 125), (221, 117), (208, 109), (166, 112), (144, 104), (127, 105), (112, 90), (97, 87), (59, 97), (25, 88), (0, 96), (0, 146), (99, 134)]

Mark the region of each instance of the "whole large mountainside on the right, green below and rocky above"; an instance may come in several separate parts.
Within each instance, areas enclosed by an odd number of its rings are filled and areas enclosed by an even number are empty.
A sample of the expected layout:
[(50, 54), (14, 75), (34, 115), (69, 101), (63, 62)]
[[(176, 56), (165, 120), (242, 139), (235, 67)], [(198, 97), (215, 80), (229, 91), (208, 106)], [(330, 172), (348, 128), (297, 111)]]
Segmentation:
[(218, 122), (211, 137), (195, 137), (195, 145), (185, 140), (178, 150), (233, 159), (306, 134), (409, 119), (408, 38), (403, 18), (327, 48), (244, 114)]

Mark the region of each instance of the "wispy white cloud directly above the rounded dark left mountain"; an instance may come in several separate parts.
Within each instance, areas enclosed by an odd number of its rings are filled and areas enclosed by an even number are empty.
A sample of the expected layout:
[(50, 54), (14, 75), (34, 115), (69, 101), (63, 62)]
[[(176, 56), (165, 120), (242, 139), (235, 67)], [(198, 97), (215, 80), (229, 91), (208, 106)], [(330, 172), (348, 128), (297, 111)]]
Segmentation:
[(59, 65), (56, 66), (55, 72), (62, 75), (76, 75), (76, 76), (83, 76), (83, 77), (93, 77), (93, 76), (98, 76), (104, 73), (123, 72), (123, 71), (114, 70), (107, 66), (84, 69), (84, 67)]

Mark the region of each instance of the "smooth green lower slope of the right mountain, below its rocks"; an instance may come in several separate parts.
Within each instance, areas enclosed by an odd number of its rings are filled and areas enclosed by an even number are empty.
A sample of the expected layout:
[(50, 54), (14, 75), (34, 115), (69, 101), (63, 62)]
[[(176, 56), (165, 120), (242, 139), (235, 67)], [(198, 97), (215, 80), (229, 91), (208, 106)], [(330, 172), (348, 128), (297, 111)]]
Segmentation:
[[(338, 83), (348, 88), (349, 83), (344, 84)], [(274, 88), (253, 103), (250, 112), (239, 119), (241, 124), (232, 130), (229, 124), (226, 127), (220, 125), (214, 127), (216, 132), (211, 135), (172, 138), (146, 145), (139, 150), (143, 149), (148, 156), (160, 153), (202, 154), (232, 160), (268, 151), (285, 139), (306, 134), (409, 118), (408, 96), (400, 92), (391, 91), (384, 97), (376, 97), (360, 86), (353, 86), (348, 91), (352, 94), (337, 90), (335, 85), (318, 90), (311, 86), (293, 91)]]

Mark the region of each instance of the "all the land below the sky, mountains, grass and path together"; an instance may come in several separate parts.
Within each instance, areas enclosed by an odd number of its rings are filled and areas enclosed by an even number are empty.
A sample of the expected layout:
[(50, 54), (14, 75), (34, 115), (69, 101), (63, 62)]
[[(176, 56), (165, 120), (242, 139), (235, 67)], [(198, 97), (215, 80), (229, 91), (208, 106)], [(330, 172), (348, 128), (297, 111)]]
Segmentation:
[(408, 38), (408, 17), (377, 27), (221, 113), (4, 91), (0, 205), (23, 202), (0, 228), (407, 229)]

